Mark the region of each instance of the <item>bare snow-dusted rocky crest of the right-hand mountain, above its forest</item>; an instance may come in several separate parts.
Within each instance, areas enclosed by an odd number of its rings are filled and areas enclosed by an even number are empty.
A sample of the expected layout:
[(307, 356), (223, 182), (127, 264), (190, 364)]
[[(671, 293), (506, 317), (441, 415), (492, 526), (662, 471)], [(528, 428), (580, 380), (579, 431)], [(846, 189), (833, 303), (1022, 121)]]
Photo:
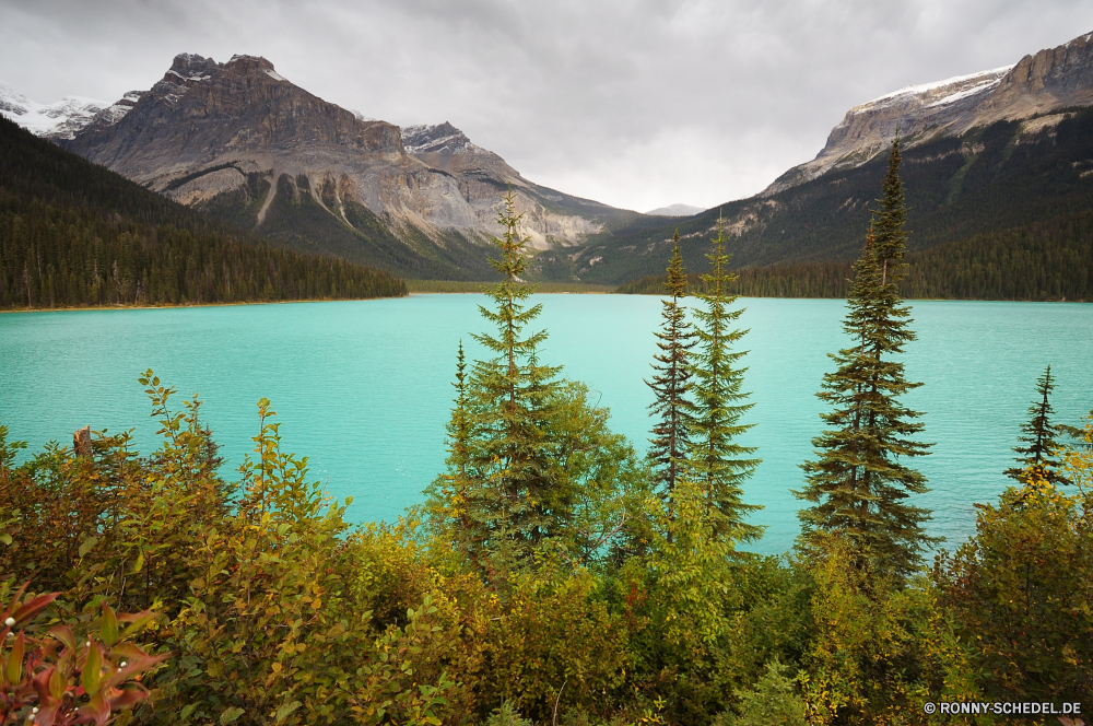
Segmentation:
[[(1093, 33), (1025, 56), (1013, 66), (914, 85), (855, 106), (831, 131), (816, 157), (795, 166), (763, 191), (769, 197), (831, 171), (854, 168), (888, 149), (900, 129), (907, 148), (960, 137), (996, 121), (1044, 117), (1093, 104)], [(1048, 116), (1041, 124), (1056, 124)]]

